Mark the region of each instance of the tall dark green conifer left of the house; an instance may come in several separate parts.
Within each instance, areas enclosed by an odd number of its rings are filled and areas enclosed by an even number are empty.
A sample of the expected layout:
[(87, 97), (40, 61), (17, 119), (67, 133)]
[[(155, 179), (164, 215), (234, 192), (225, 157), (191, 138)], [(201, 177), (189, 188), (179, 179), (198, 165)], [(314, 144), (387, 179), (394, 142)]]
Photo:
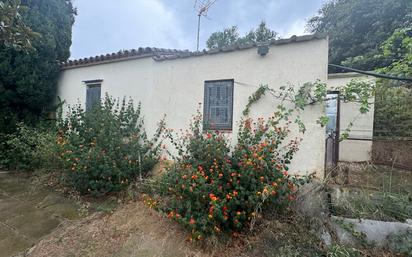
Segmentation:
[(0, 45), (0, 132), (35, 122), (52, 104), (59, 63), (70, 56), (75, 10), (70, 0), (23, 0), (22, 21), (40, 34), (34, 50)]

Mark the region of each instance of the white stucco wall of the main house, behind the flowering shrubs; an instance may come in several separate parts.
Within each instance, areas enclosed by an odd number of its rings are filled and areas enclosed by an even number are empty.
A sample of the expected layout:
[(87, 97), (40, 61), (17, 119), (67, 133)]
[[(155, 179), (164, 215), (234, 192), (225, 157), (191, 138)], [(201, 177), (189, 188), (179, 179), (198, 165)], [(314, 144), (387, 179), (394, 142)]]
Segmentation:
[[(130, 96), (141, 101), (145, 126), (149, 134), (166, 114), (168, 128), (185, 129), (199, 103), (203, 103), (204, 81), (234, 79), (233, 131), (259, 84), (279, 88), (287, 83), (327, 80), (328, 41), (314, 39), (270, 46), (266, 56), (257, 48), (237, 50), (198, 57), (155, 61), (142, 58), (65, 69), (61, 73), (58, 95), (68, 104), (84, 104), (86, 86), (82, 81), (103, 79), (102, 95)], [(252, 117), (268, 116), (277, 103), (270, 96), (252, 107)], [(316, 124), (321, 106), (308, 108), (302, 115), (307, 132), (291, 171), (299, 174), (317, 172), (323, 176), (325, 131)]]

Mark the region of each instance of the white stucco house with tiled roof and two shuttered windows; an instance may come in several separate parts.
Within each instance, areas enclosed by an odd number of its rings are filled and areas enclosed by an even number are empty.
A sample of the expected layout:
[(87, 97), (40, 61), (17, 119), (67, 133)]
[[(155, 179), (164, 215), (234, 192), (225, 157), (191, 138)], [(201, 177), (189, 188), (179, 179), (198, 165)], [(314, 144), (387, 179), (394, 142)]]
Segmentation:
[[(200, 103), (204, 115), (213, 117), (217, 128), (234, 141), (248, 97), (259, 85), (279, 89), (316, 80), (328, 81), (328, 38), (315, 34), (274, 40), (268, 48), (247, 45), (201, 52), (139, 48), (68, 61), (62, 64), (58, 96), (86, 108), (105, 93), (132, 97), (142, 103), (149, 135), (165, 114), (168, 128), (187, 128)], [(210, 101), (212, 97), (222, 101)], [(253, 106), (251, 117), (269, 116), (277, 104), (264, 96)], [(301, 115), (307, 132), (291, 165), (295, 173), (324, 175), (325, 130), (316, 123), (323, 113), (324, 108), (315, 105)]]

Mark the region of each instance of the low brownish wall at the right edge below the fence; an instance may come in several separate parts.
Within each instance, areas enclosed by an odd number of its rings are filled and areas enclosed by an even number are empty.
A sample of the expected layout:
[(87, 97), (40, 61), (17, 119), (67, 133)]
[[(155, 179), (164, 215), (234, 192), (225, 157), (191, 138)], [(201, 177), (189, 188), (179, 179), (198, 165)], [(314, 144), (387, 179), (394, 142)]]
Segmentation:
[(374, 139), (372, 161), (412, 170), (412, 139)]

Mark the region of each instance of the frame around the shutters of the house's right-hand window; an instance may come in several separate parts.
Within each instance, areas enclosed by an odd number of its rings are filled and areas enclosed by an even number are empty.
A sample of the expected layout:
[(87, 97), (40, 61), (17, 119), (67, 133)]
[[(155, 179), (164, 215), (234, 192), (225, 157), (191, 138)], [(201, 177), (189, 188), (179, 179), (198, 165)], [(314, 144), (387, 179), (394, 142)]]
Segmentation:
[[(220, 126), (212, 126), (210, 123), (207, 122), (207, 115), (210, 113), (210, 103), (208, 100), (208, 93), (207, 93), (207, 84), (214, 83), (214, 82), (228, 82), (229, 83), (229, 94), (231, 95), (232, 99), (229, 99), (229, 119), (230, 122), (227, 125), (220, 125)], [(203, 130), (216, 130), (216, 131), (223, 131), (223, 132), (231, 132), (233, 130), (233, 105), (234, 105), (234, 79), (216, 79), (216, 80), (205, 80), (203, 83)]]

